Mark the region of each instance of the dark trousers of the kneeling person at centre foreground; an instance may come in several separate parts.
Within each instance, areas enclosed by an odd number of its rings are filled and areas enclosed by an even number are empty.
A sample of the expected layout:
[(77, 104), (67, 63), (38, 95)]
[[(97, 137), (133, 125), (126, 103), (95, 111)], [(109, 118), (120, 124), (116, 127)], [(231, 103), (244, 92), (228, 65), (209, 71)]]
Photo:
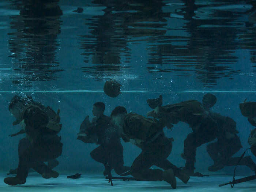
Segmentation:
[(133, 161), (131, 175), (138, 180), (162, 181), (161, 169), (150, 169), (152, 165), (161, 167), (164, 170), (173, 169), (174, 175), (180, 170), (170, 163), (166, 158), (172, 151), (172, 141), (165, 136), (159, 136), (154, 142), (143, 147), (142, 152)]

